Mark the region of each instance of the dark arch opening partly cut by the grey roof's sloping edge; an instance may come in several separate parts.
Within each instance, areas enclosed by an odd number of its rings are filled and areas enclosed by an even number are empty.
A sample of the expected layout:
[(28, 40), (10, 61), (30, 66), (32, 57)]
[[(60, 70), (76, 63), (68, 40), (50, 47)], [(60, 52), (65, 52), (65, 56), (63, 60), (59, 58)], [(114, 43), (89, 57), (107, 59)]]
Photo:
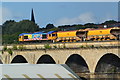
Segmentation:
[(75, 73), (89, 73), (88, 65), (78, 54), (71, 55), (66, 63)]

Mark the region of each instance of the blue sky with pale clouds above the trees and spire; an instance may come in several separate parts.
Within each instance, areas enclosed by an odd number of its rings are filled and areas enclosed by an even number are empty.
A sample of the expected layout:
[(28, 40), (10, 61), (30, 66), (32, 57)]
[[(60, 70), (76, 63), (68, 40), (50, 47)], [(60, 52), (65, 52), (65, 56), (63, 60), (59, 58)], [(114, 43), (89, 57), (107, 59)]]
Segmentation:
[[(2, 22), (31, 19), (33, 8), (35, 21), (40, 27), (102, 23), (118, 21), (118, 2), (2, 2)], [(1, 21), (1, 20), (0, 20)]]

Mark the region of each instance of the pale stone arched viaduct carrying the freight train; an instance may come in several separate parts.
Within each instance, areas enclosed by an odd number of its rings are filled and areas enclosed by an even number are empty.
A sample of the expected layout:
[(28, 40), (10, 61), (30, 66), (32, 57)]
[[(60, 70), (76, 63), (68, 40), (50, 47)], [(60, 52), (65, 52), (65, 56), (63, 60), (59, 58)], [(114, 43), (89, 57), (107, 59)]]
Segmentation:
[(65, 64), (71, 56), (78, 55), (85, 61), (91, 73), (95, 72), (98, 62), (105, 55), (113, 55), (120, 59), (119, 48), (14, 50), (12, 55), (6, 51), (0, 57), (3, 64), (12, 63), (18, 56), (24, 57), (29, 64), (37, 64), (44, 55), (50, 56), (56, 64)]

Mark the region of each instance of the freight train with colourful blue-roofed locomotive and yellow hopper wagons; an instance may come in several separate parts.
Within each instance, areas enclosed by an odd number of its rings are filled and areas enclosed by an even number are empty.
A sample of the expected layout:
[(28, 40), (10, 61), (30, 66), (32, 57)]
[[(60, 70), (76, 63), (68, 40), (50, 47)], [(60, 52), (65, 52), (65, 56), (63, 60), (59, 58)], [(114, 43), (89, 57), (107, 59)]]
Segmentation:
[(50, 31), (22, 33), (19, 35), (20, 42), (52, 41), (52, 42), (78, 42), (78, 41), (104, 41), (119, 40), (120, 27), (103, 29), (81, 29), (73, 31)]

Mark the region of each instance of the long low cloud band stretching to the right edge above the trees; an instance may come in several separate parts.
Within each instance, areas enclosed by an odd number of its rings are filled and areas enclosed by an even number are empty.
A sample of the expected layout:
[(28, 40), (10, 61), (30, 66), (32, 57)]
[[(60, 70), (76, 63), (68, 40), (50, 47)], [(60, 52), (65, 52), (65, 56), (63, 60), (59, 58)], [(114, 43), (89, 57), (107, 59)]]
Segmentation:
[(93, 15), (92, 13), (83, 13), (73, 18), (61, 18), (55, 22), (56, 26), (72, 25), (72, 24), (86, 24), (86, 23), (103, 23), (108, 20), (118, 20), (118, 18), (110, 13), (104, 14), (102, 17)]

